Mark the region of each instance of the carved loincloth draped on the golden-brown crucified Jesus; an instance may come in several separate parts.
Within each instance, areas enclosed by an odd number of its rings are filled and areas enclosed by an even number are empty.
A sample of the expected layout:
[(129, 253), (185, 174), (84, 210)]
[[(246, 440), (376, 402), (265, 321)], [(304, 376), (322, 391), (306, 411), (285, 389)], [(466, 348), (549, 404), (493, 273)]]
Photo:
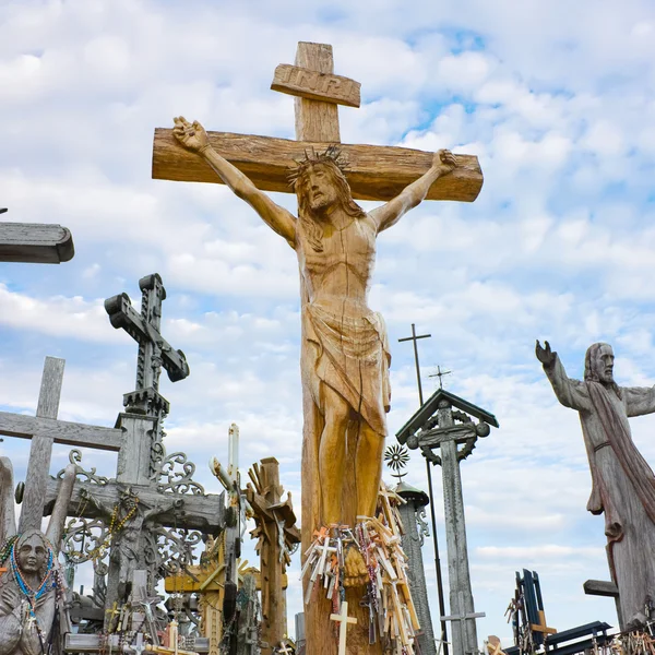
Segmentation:
[[(391, 402), (391, 354), (382, 317), (368, 308), (335, 313), (320, 305), (302, 308), (309, 384), (323, 413), (321, 382), (341, 394), (380, 436), (386, 436)], [(315, 372), (315, 374), (311, 374)]]

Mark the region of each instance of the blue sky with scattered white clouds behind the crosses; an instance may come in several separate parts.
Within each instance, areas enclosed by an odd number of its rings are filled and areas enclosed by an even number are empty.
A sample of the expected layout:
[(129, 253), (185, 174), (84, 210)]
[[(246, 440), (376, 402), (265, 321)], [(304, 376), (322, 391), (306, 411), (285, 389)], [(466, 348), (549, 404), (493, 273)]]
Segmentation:
[[(507, 643), (523, 567), (540, 574), (549, 624), (616, 622), (611, 600), (582, 592), (608, 576), (603, 520), (584, 509), (577, 417), (533, 349), (548, 338), (580, 377), (586, 347), (608, 341), (619, 383), (655, 381), (651, 2), (4, 0), (0, 28), (3, 219), (66, 225), (76, 248), (61, 266), (0, 265), (2, 409), (34, 412), (52, 355), (67, 359), (60, 417), (112, 425), (135, 346), (102, 303), (123, 290), (138, 302), (139, 278), (157, 271), (164, 334), (191, 367), (162, 385), (169, 451), (217, 491), (205, 462), (227, 456), (236, 421), (242, 463), (277, 456), (299, 507), (295, 255), (224, 187), (153, 181), (152, 136), (181, 114), (293, 138), (273, 71), (298, 40), (330, 43), (335, 72), (362, 85), (361, 108), (341, 110), (343, 142), (450, 147), (485, 174), (475, 203), (425, 203), (380, 237), (371, 291), (392, 345), (390, 433), (417, 408), (412, 348), (397, 343), (412, 323), (432, 334), (420, 342), (426, 392), (440, 364), (450, 391), (500, 421), (462, 467), (480, 639)], [(654, 420), (633, 422), (650, 462)], [(5, 439), (0, 452), (21, 479), (28, 444)], [(111, 456), (86, 457), (112, 473)], [(66, 461), (58, 449), (53, 472)], [(408, 480), (424, 476), (414, 456)], [(440, 496), (437, 512), (444, 545)], [(429, 545), (425, 561), (436, 597)]]

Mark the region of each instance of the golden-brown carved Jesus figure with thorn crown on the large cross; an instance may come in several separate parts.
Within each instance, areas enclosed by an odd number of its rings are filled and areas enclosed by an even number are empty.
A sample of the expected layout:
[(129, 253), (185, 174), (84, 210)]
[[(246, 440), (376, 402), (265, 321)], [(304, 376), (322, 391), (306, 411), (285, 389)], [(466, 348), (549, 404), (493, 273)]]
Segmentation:
[[(455, 167), (454, 156), (439, 151), (421, 178), (367, 214), (350, 195), (338, 151), (312, 153), (291, 175), (296, 218), (213, 150), (200, 123), (176, 118), (174, 133), (296, 251), (303, 295), (302, 381), (320, 417), (314, 443), (309, 444), (318, 454), (320, 516), (324, 525), (352, 525), (357, 515), (372, 515), (386, 436), (391, 359), (382, 317), (367, 303), (376, 237), (425, 199), (432, 182)], [(346, 432), (356, 436), (350, 452)], [(355, 511), (344, 512), (347, 458), (355, 463), (356, 502)]]

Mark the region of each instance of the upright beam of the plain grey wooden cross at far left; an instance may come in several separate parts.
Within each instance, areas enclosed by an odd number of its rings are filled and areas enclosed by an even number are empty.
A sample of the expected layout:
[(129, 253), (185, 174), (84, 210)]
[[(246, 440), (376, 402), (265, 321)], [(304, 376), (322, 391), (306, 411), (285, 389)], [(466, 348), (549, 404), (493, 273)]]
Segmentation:
[[(36, 407), (37, 418), (57, 419), (64, 366), (64, 359), (46, 357)], [(40, 433), (32, 438), (27, 475), (25, 476), (25, 496), (19, 524), (20, 533), (40, 528), (53, 442), (55, 439), (50, 434)]]

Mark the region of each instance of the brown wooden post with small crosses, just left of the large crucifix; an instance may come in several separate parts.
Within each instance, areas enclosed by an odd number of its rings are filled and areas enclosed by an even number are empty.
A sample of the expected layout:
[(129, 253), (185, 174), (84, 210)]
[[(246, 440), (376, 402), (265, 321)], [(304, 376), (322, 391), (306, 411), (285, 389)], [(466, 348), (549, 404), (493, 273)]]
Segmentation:
[(286, 633), (286, 598), (283, 579), (290, 563), (289, 548), (300, 541), (296, 527), (296, 515), (290, 496), (282, 502), (284, 488), (279, 484), (279, 464), (267, 457), (248, 471), (252, 485), (248, 485), (246, 497), (257, 527), (252, 536), (259, 538), (255, 546), (260, 556), (262, 587), (262, 648), (263, 655), (273, 652)]

